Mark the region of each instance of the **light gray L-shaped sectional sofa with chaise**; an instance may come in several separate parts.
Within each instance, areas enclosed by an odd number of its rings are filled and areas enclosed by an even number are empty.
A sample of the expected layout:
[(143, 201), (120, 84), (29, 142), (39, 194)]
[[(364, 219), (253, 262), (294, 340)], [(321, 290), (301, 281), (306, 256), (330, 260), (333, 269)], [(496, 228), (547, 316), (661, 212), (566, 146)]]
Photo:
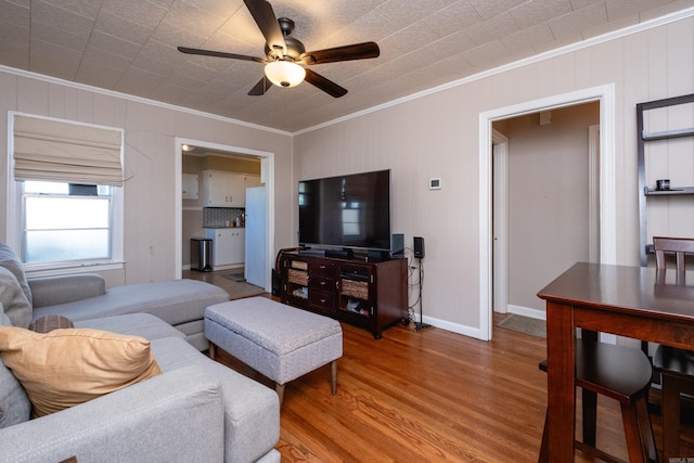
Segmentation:
[(0, 361), (0, 462), (279, 462), (279, 398), (200, 351), (207, 346), (204, 309), (222, 295), (192, 283), (104, 290), (95, 275), (27, 281), (16, 256), (0, 245), (0, 324), (27, 327), (44, 314), (63, 314), (75, 327), (142, 336), (162, 370), (31, 420), (24, 388)]

